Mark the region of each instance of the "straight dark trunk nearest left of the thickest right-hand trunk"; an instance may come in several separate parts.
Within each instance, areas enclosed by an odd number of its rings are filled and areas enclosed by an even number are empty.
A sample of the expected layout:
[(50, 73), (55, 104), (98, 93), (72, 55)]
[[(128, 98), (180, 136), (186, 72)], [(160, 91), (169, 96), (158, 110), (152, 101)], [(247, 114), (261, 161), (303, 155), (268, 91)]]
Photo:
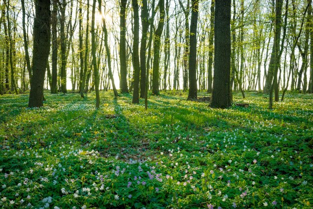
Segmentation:
[(196, 84), (196, 26), (198, 21), (198, 0), (191, 0), (190, 49), (189, 49), (189, 93), (188, 100), (197, 99)]

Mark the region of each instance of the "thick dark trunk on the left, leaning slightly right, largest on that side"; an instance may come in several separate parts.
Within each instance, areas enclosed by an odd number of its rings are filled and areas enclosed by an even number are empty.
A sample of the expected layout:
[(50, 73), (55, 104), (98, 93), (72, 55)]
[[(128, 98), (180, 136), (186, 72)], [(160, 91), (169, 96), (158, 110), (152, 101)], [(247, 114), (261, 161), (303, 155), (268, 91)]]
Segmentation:
[(50, 0), (36, 0), (28, 107), (43, 106), (44, 75), (50, 51), (50, 16)]

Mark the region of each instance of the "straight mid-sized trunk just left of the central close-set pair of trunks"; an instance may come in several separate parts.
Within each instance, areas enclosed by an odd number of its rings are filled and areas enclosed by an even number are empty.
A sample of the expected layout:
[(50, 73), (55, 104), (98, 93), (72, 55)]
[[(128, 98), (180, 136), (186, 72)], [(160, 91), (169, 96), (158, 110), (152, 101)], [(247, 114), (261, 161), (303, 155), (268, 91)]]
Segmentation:
[(119, 13), (119, 62), (120, 62), (120, 92), (128, 93), (127, 87), (127, 68), (126, 68), (126, 5), (127, 0), (120, 0)]

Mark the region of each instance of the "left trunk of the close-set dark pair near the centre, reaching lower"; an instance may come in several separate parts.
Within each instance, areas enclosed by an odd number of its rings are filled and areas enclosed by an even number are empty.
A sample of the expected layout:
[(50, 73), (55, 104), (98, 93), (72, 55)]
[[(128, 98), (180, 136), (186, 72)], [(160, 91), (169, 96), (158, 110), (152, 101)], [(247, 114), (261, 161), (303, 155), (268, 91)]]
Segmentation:
[[(132, 0), (133, 10), (133, 42), (132, 42), (132, 68), (133, 68), (133, 92), (132, 92), (132, 103), (139, 103), (139, 5), (137, 0)], [(144, 65), (144, 63), (143, 63)]]

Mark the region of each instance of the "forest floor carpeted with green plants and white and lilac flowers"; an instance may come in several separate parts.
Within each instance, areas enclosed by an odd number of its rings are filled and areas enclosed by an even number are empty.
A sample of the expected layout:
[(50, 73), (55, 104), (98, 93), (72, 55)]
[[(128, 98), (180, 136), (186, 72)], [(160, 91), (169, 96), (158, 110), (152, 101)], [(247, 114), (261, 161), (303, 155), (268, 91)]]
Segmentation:
[(0, 207), (312, 208), (313, 95), (186, 97), (0, 96)]

